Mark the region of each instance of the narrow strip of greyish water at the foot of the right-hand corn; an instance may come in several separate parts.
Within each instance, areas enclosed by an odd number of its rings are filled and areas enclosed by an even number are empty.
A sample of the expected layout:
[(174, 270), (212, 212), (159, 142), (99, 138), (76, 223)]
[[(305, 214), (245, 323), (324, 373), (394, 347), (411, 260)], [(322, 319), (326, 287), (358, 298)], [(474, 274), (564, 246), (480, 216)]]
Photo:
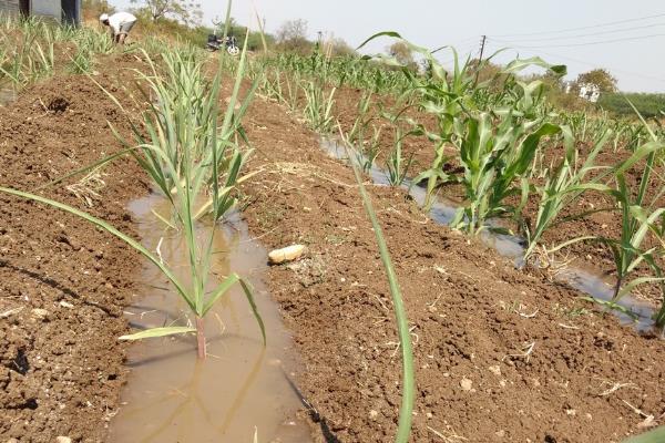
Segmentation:
[[(336, 138), (321, 137), (320, 147), (334, 158), (348, 162), (349, 157), (351, 157), (359, 159), (364, 164), (367, 163), (367, 158), (362, 154), (355, 150), (347, 152), (345, 146)], [(387, 172), (376, 166), (376, 164), (371, 165), (368, 175), (372, 183), (377, 185), (389, 184)], [(419, 206), (424, 205), (426, 189), (419, 186), (411, 186), (411, 181), (406, 179), (401, 188), (407, 190)], [(460, 206), (460, 202), (452, 202), (438, 196), (430, 210), (430, 217), (441, 225), (449, 225)], [(493, 234), (489, 230), (482, 231), (480, 239), (485, 245), (494, 248), (500, 255), (513, 259), (515, 266), (522, 267), (524, 265), (523, 239), (511, 235)], [(614, 282), (606, 276), (603, 276), (597, 269), (567, 267), (556, 274), (555, 279), (597, 300), (611, 301), (614, 295), (612, 289)], [(620, 318), (622, 323), (633, 324), (640, 331), (647, 331), (654, 328), (654, 308), (652, 305), (637, 300), (630, 295), (622, 297), (616, 301), (616, 305), (625, 310), (625, 312), (620, 310), (612, 311)]]

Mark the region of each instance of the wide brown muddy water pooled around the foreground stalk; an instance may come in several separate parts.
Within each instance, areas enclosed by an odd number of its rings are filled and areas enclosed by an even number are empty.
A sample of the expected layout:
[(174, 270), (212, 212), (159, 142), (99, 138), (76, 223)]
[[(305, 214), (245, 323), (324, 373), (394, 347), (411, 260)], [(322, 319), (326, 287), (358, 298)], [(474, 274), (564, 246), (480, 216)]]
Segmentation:
[[(181, 235), (165, 231), (151, 209), (167, 214), (157, 196), (134, 202), (143, 245), (158, 251), (178, 277), (187, 270)], [(204, 238), (209, 227), (200, 227)], [(296, 419), (300, 399), (289, 382), (297, 368), (291, 341), (262, 279), (266, 250), (234, 219), (217, 226), (213, 272), (235, 271), (249, 280), (266, 324), (267, 346), (241, 288), (223, 297), (205, 320), (208, 358), (196, 358), (194, 337), (146, 339), (133, 344), (131, 375), (121, 408), (110, 425), (110, 442), (309, 442), (306, 423)], [(203, 240), (202, 240), (203, 243)], [(136, 329), (193, 322), (154, 266), (142, 271), (142, 290), (126, 316)]]

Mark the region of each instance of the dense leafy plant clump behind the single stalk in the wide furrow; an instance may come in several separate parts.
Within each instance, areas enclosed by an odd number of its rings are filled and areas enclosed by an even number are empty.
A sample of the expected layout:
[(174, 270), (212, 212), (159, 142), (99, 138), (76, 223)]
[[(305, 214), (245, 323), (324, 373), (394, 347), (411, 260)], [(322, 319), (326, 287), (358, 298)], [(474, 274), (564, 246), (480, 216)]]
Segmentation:
[[(182, 203), (186, 192), (191, 190), (194, 196), (207, 195), (195, 218), (207, 214), (217, 219), (236, 203), (233, 189), (242, 179), (239, 172), (249, 155), (249, 151), (238, 148), (236, 140), (238, 133), (244, 135), (239, 122), (256, 84), (237, 111), (227, 110), (224, 123), (217, 130), (217, 115), (213, 111), (219, 96), (221, 70), (208, 86), (202, 73), (203, 61), (191, 48), (163, 53), (164, 75), (145, 51), (143, 55), (152, 71), (151, 74), (136, 71), (150, 86), (147, 91), (142, 90), (150, 101), (150, 109), (143, 114), (147, 136), (133, 125), (134, 144), (139, 150), (132, 151), (132, 155), (174, 207), (180, 206), (178, 199)], [(243, 65), (244, 56), (239, 66)], [(234, 104), (242, 74), (243, 69), (239, 69)], [(117, 132), (115, 134), (126, 148), (132, 146)], [(183, 187), (185, 182), (187, 188)], [(212, 189), (218, 185), (217, 198), (211, 197)], [(186, 220), (187, 217), (180, 218)]]

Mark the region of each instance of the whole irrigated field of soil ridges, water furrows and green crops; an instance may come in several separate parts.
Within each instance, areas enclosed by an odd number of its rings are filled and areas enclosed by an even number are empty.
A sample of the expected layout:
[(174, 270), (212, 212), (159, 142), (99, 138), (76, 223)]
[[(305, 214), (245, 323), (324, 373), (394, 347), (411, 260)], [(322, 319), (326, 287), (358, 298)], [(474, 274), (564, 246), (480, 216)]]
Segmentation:
[(1, 442), (665, 441), (657, 121), (406, 41), (0, 41)]

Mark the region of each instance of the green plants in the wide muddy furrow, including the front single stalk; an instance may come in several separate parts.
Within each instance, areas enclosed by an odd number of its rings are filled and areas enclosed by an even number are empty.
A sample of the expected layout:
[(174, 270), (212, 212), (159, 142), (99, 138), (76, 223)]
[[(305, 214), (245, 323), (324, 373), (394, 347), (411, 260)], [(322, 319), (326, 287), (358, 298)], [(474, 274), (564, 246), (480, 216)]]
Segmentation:
[[(176, 223), (171, 225), (182, 228), (187, 249), (188, 278), (186, 282), (176, 278), (173, 269), (163, 264), (141, 244), (108, 223), (39, 195), (0, 188), (0, 192), (65, 210), (120, 238), (157, 266), (195, 317), (195, 328), (155, 328), (123, 336), (121, 337), (123, 340), (196, 332), (197, 354), (200, 358), (205, 358), (206, 343), (203, 318), (232, 286), (239, 284), (252, 307), (265, 342), (264, 323), (254, 302), (252, 290), (239, 276), (231, 274), (222, 281), (213, 285), (211, 290), (211, 262), (214, 254), (215, 229), (209, 229), (207, 238), (204, 238), (203, 244), (198, 244), (198, 229), (196, 226), (196, 219), (202, 213), (207, 212), (212, 215), (213, 220), (217, 220), (233, 203), (229, 195), (237, 183), (243, 158), (238, 146), (234, 142), (234, 134), (238, 130), (238, 115), (234, 113), (234, 107), (243, 79), (245, 52), (246, 48), (241, 56), (233, 95), (221, 128), (217, 127), (221, 72), (217, 72), (213, 83), (207, 87), (201, 81), (202, 74), (197, 69), (198, 66), (186, 58), (185, 52), (184, 55), (180, 54), (165, 59), (166, 71), (172, 80), (177, 80), (176, 82), (168, 83), (158, 80), (154, 64), (152, 65), (153, 76), (146, 75), (144, 78), (156, 97), (162, 101), (158, 101), (157, 104), (151, 104), (150, 111), (143, 115), (145, 128), (151, 136), (150, 140), (144, 140), (134, 126), (135, 136), (140, 143), (131, 152), (135, 154), (134, 157), (139, 164), (144, 167), (172, 204), (173, 218)], [(120, 105), (115, 97), (110, 96)], [(244, 103), (244, 106), (246, 105), (247, 101)], [(219, 177), (224, 177), (223, 184), (219, 183)], [(204, 187), (207, 196), (204, 198), (205, 203), (202, 205), (202, 209), (197, 208), (196, 204), (203, 195)], [(166, 217), (162, 216), (161, 218), (168, 223)]]

